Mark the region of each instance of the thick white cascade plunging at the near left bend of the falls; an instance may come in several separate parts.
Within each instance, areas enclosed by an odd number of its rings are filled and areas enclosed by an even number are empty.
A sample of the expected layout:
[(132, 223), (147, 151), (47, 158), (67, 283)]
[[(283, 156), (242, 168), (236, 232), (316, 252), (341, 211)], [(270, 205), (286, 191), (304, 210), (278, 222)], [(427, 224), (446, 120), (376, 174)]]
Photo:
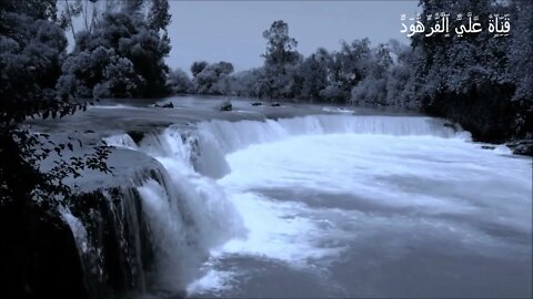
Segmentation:
[(164, 184), (149, 181), (139, 193), (158, 246), (159, 287), (183, 290), (198, 276), (208, 250), (239, 234), (240, 220), (223, 190), (191, 164), (192, 143), (174, 127), (145, 137), (140, 151), (165, 168)]

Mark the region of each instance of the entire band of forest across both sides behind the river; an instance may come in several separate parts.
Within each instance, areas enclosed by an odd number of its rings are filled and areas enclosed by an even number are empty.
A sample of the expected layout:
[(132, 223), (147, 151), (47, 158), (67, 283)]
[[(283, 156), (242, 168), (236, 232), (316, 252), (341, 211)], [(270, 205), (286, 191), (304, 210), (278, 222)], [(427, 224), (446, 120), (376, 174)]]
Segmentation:
[[(510, 13), (509, 37), (486, 31), (414, 35), (411, 45), (391, 40), (374, 47), (362, 38), (309, 56), (298, 52), (289, 24), (278, 20), (262, 32), (263, 66), (235, 73), (231, 62), (198, 61), (189, 70), (192, 78), (164, 61), (171, 49), (168, 1), (3, 2), (2, 80), (10, 84), (2, 84), (2, 94), (20, 93), (24, 75), (40, 74), (36, 87), (47, 87), (47, 97), (54, 93), (63, 102), (177, 93), (334, 102), (449, 117), (481, 141), (531, 137), (533, 21), (527, 1), (420, 2), (421, 16), (444, 10), (452, 16), (473, 10), (482, 19)], [(77, 18), (83, 27), (73, 25)], [(74, 40), (70, 52), (66, 34)], [(20, 103), (11, 99), (11, 104)], [(3, 101), (2, 109), (11, 104)]]

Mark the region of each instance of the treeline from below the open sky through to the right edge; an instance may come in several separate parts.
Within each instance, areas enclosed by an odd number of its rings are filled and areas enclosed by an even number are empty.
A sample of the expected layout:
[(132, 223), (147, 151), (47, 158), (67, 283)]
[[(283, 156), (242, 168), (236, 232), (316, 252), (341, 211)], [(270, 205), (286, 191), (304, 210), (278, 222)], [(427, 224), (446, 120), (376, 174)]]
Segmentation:
[[(491, 13), (510, 13), (512, 30), (500, 38), (486, 30), (466, 37), (419, 34), (411, 45), (392, 40), (371, 47), (368, 39), (356, 39), (304, 58), (289, 24), (280, 20), (263, 32), (263, 66), (232, 73), (228, 62), (195, 62), (192, 80), (175, 70), (168, 83), (175, 93), (418, 110), (459, 122), (480, 141), (531, 138), (533, 4), (421, 0), (420, 6), (421, 16), (472, 11), (487, 20)], [(423, 22), (431, 25), (425, 18)]]

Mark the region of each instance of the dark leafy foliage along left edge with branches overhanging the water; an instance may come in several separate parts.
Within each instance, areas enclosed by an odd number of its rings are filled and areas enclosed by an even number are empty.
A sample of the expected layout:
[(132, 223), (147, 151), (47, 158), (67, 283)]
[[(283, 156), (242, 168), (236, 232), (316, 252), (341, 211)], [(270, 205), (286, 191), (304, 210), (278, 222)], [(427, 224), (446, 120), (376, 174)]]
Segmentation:
[[(47, 173), (41, 162), (73, 151), (73, 140), (56, 143), (47, 134), (23, 126), (27, 117), (62, 117), (84, 110), (87, 103), (57, 93), (67, 40), (56, 24), (53, 1), (4, 1), (0, 8), (0, 207), (31, 205), (40, 199), (53, 206), (70, 194), (62, 183), (83, 168), (109, 172), (104, 163), (110, 148), (69, 161), (57, 159)], [(3, 2), (2, 2), (3, 3)]]

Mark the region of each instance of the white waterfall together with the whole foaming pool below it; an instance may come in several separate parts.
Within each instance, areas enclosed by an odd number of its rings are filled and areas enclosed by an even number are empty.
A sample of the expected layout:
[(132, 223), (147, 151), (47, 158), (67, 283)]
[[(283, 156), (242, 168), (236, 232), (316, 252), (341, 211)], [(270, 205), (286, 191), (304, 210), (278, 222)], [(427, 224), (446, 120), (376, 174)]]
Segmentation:
[(161, 298), (531, 296), (532, 161), (424, 116), (204, 121), (135, 143)]

